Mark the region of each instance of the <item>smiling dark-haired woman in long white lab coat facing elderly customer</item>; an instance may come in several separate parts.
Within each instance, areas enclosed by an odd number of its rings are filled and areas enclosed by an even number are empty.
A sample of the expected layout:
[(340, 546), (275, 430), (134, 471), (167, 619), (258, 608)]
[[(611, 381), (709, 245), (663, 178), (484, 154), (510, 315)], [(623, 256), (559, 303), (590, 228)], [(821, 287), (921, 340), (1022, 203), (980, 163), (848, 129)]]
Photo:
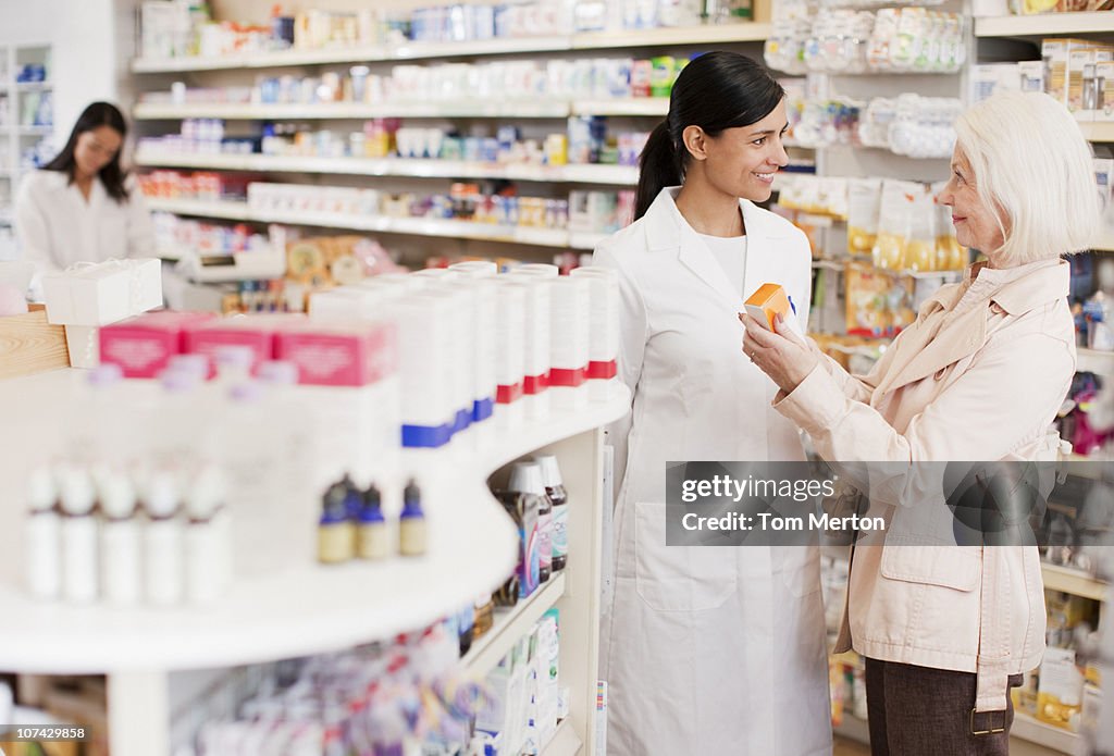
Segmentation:
[(665, 544), (667, 461), (804, 459), (770, 408), (776, 386), (739, 354), (735, 318), (766, 282), (808, 318), (808, 240), (754, 204), (789, 161), (784, 98), (744, 56), (691, 61), (642, 155), (638, 220), (596, 251), (618, 272), (619, 375), (634, 394), (627, 426), (610, 429), (622, 480), (600, 645), (612, 756), (831, 754), (819, 553)]

